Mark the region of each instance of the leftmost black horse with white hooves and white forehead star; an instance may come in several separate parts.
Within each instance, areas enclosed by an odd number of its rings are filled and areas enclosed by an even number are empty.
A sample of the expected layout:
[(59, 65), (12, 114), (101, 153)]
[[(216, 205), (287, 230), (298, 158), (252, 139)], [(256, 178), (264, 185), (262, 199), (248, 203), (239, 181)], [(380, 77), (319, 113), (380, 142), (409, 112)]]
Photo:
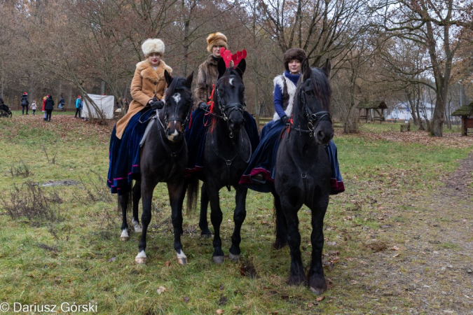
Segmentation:
[[(158, 111), (158, 118), (151, 120), (146, 141), (140, 149), (140, 174), (132, 190), (132, 196), (121, 195), (119, 202), (123, 214), (122, 239), (128, 239), (128, 224), (126, 209), (132, 197), (133, 224), (135, 231), (142, 230), (139, 241), (139, 253), (135, 258), (137, 263), (146, 262), (146, 231), (151, 221), (151, 201), (153, 190), (160, 182), (167, 183), (172, 209), (172, 226), (174, 228), (174, 249), (180, 265), (187, 262), (182, 251), (182, 203), (184, 201), (184, 169), (187, 164), (187, 146), (184, 139), (186, 125), (192, 108), (193, 73), (187, 78), (172, 78), (165, 71), (167, 92), (165, 106)], [(139, 228), (138, 203), (142, 198), (143, 228)]]

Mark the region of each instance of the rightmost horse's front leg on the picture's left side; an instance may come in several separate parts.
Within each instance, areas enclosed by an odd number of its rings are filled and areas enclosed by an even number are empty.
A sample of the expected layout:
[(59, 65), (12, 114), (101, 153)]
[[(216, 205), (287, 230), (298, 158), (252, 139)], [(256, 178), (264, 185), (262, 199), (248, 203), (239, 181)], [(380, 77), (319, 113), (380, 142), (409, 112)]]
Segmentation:
[(301, 189), (291, 188), (285, 195), (280, 195), (282, 211), (287, 221), (287, 242), (291, 250), (291, 269), (289, 270), (289, 285), (299, 285), (306, 282), (306, 275), (301, 258), (301, 234), (299, 233), (299, 218), (297, 212), (301, 209)]

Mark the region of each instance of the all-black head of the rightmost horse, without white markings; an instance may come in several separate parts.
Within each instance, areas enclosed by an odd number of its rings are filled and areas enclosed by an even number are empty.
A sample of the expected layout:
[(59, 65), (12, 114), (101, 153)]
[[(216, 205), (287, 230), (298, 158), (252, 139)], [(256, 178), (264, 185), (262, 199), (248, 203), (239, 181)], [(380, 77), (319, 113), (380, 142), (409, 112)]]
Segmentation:
[(308, 129), (301, 131), (313, 136), (317, 144), (328, 144), (334, 137), (330, 113), (330, 61), (327, 59), (322, 68), (310, 68), (308, 59), (305, 59), (301, 73), (302, 78), (296, 91), (298, 113), (294, 111), (294, 119), (297, 114), (299, 122), (302, 120), (307, 123)]

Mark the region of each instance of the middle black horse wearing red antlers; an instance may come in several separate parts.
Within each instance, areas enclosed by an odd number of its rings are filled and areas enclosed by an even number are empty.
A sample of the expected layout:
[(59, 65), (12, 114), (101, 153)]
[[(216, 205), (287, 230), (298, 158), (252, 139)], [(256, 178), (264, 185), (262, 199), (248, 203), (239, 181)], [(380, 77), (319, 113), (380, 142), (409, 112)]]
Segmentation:
[[(231, 260), (240, 259), (240, 229), (245, 221), (247, 188), (240, 186), (238, 181), (248, 165), (252, 155), (252, 146), (245, 124), (245, 86), (243, 73), (246, 62), (242, 59), (233, 67), (226, 67), (224, 59), (219, 59), (217, 69), (219, 78), (214, 87), (213, 106), (211, 109), (212, 122), (207, 131), (203, 153), (203, 172), (194, 173), (187, 188), (188, 208), (196, 207), (198, 180), (204, 182), (200, 228), (203, 234), (210, 234), (207, 227), (207, 202), (210, 202), (210, 221), (214, 226), (214, 253), (212, 259), (216, 263), (224, 262), (224, 252), (221, 249), (220, 224), (222, 212), (219, 202), (219, 190), (233, 186), (236, 190), (236, 207), (233, 213), (235, 229), (231, 237), (232, 246), (229, 257)], [(204, 225), (204, 226), (203, 226)]]

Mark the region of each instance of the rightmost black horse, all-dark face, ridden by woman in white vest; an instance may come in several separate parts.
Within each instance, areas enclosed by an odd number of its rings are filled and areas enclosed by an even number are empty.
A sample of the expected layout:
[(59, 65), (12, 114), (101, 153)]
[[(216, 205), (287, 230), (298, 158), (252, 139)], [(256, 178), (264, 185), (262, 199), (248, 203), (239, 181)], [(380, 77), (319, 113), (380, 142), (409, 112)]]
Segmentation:
[[(327, 289), (322, 267), (322, 231), (329, 205), (331, 168), (324, 145), (334, 137), (329, 112), (331, 87), (330, 62), (322, 68), (310, 69), (308, 60), (302, 63), (294, 100), (293, 123), (284, 132), (277, 150), (275, 190), (276, 241), (280, 248), (289, 243), (291, 269), (289, 284), (307, 283), (314, 293)], [(312, 262), (308, 281), (301, 259), (301, 235), (297, 212), (306, 204), (312, 211)]]

